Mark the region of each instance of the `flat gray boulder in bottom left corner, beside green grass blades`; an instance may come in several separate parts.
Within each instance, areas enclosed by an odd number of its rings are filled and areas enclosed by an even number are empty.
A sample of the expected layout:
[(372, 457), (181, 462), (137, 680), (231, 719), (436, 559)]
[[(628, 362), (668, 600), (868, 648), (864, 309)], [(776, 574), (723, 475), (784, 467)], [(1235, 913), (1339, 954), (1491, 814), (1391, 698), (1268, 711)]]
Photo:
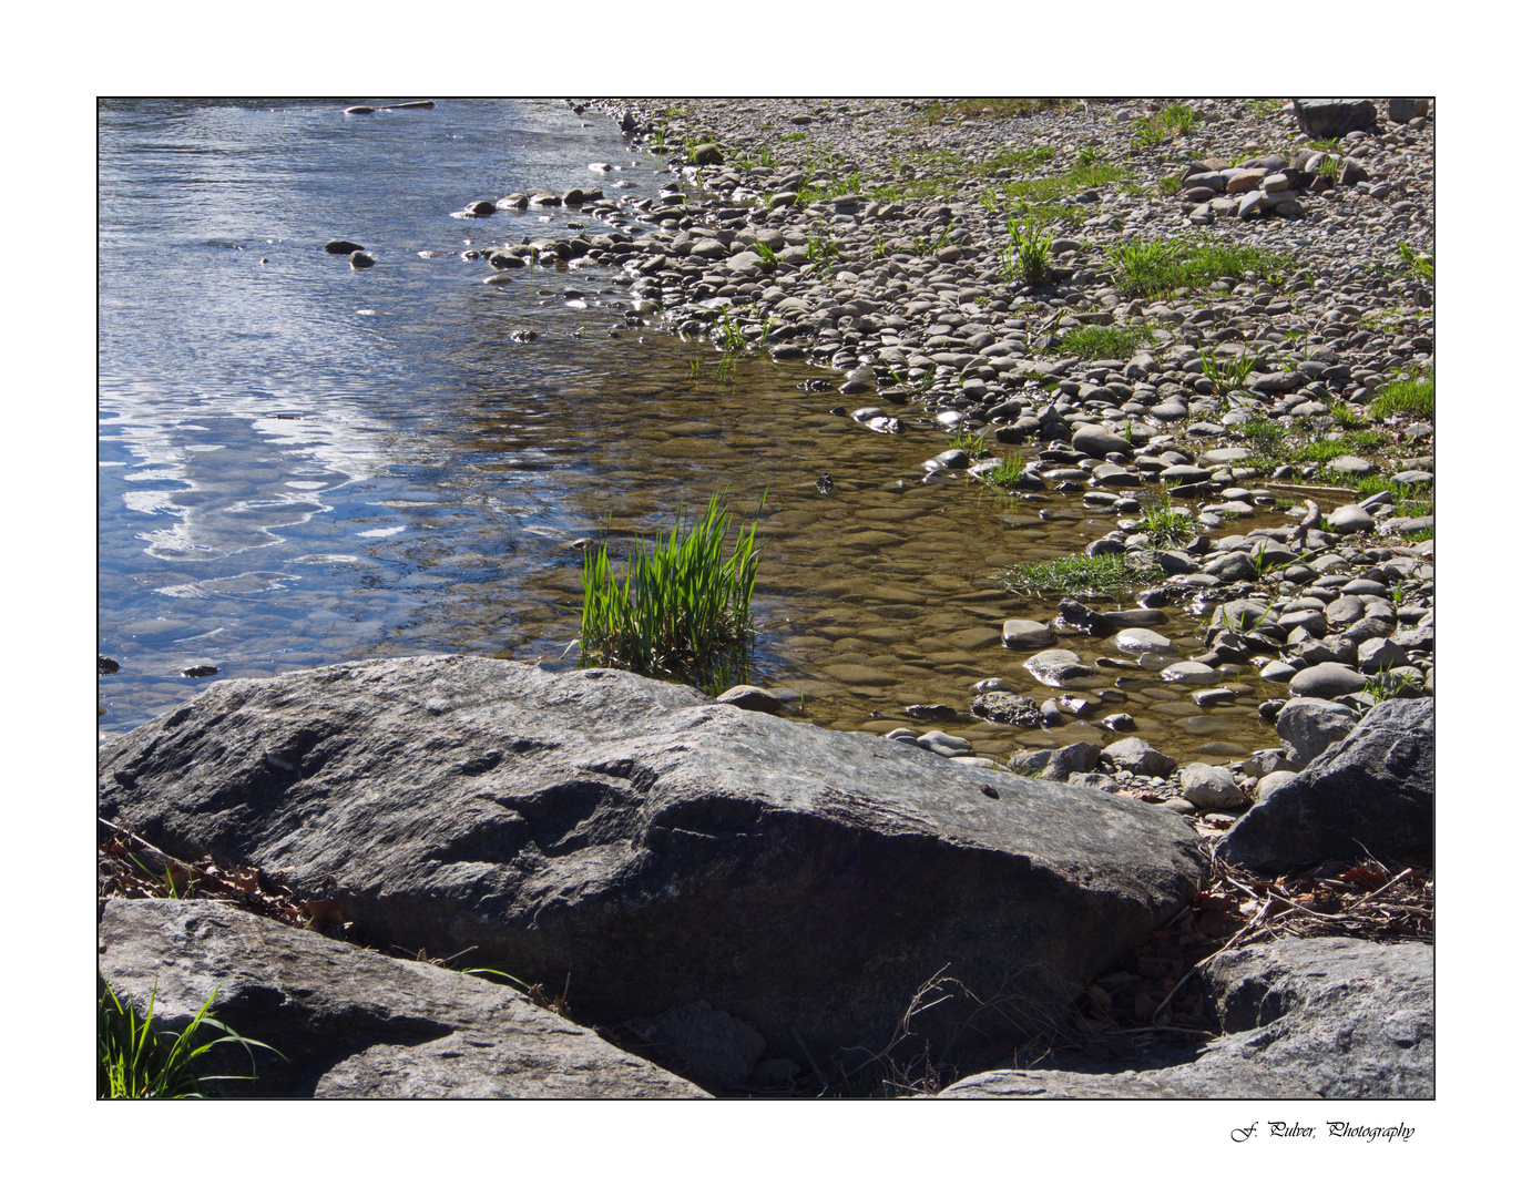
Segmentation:
[[(391, 959), (214, 901), (112, 898), (101, 976), (139, 1016), (185, 1028), (213, 990), (213, 1018), (256, 1050), (230, 1097), (705, 1097), (507, 985)], [(216, 1053), (216, 1054), (214, 1054)], [(248, 1076), (214, 1048), (204, 1074)], [(211, 1087), (210, 1087), (211, 1088)]]

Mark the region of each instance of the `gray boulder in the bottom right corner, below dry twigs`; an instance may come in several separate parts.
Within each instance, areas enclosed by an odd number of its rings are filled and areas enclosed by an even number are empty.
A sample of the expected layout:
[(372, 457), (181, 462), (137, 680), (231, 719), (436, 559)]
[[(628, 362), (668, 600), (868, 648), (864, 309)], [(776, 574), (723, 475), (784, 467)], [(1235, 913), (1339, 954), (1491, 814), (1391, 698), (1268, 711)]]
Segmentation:
[(1137, 1068), (980, 1073), (942, 1097), (1432, 1097), (1431, 944), (1278, 940), (1201, 970), (1224, 1036)]

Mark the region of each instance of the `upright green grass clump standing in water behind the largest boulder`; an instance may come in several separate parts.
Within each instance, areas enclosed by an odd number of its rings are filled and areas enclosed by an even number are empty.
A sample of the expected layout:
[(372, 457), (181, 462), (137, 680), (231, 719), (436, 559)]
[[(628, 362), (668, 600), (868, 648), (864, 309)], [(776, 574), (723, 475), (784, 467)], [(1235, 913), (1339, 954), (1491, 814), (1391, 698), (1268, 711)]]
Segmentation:
[(723, 498), (709, 498), (702, 520), (689, 524), (682, 504), (669, 536), (654, 533), (653, 546), (636, 536), (620, 579), (605, 539), (587, 550), (581, 567), (584, 661), (650, 677), (685, 677), (703, 690), (726, 688), (745, 671), (745, 645), (754, 635), (760, 507), (757, 521), (725, 555), (732, 520)]

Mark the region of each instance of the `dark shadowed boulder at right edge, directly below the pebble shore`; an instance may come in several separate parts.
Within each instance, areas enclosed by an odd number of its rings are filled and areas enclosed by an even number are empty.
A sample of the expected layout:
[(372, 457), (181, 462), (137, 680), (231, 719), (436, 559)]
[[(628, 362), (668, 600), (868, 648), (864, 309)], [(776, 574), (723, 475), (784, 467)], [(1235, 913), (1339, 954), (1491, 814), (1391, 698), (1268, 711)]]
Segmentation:
[(1301, 772), (1273, 788), (1218, 843), (1224, 860), (1285, 871), (1370, 852), (1429, 848), (1435, 817), (1434, 699), (1380, 702)]

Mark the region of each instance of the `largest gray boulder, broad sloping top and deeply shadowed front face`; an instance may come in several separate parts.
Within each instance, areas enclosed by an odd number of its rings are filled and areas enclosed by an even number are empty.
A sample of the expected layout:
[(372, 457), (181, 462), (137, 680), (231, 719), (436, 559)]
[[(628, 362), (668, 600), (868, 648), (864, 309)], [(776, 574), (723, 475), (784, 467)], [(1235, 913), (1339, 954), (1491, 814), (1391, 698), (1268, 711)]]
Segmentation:
[[(1140, 802), (470, 656), (228, 680), (107, 743), (101, 814), (259, 866), (375, 941), (498, 963), (607, 1025), (706, 1001), (772, 1056), (1039, 1027), (1204, 877)], [(472, 949), (472, 950), (469, 950)], [(993, 1025), (991, 1025), (993, 1024)]]

